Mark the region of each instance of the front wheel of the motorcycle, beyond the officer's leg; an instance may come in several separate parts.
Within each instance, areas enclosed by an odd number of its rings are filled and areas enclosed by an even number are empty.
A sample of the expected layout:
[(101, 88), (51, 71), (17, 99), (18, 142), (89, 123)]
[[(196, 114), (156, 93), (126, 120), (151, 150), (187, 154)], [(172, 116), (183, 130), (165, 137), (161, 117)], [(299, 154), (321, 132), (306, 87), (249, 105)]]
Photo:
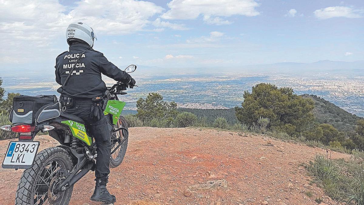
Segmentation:
[[(119, 127), (123, 127), (126, 129), (128, 128), (128, 123), (123, 116), (120, 116), (118, 123), (114, 125), (115, 129), (118, 129)], [(114, 151), (114, 153), (111, 154), (109, 167), (117, 167), (123, 161), (126, 148), (128, 146), (128, 139), (125, 139), (122, 145), (119, 146), (119, 144), (124, 140), (124, 137), (126, 137), (127, 135), (127, 132), (122, 129), (117, 132), (111, 133), (111, 152)]]

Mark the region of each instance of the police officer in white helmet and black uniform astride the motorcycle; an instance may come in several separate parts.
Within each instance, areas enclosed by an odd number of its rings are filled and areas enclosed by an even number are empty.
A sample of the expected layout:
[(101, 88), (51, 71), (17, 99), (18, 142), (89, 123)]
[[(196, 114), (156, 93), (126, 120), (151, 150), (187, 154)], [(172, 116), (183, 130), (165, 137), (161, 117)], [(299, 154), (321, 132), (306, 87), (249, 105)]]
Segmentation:
[[(75, 22), (68, 25), (66, 38), (69, 51), (56, 58), (56, 82), (62, 85), (57, 92), (61, 93), (61, 98), (73, 101), (73, 107), (66, 108), (64, 112), (81, 117), (95, 137), (98, 158), (95, 170), (96, 186), (91, 200), (114, 203), (115, 196), (106, 189), (110, 173), (110, 132), (101, 107), (94, 106), (92, 98), (102, 96), (106, 91), (101, 74), (131, 86), (135, 85), (135, 80), (109, 62), (102, 53), (92, 49), (96, 36), (87, 24)], [(72, 68), (71, 76), (64, 85)]]

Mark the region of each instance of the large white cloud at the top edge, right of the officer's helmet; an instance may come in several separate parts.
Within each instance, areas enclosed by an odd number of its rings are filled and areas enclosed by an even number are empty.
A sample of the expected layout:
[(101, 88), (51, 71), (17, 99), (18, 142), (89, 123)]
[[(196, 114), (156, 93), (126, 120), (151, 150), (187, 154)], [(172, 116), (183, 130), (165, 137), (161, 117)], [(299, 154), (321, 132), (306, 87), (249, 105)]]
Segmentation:
[(230, 24), (220, 17), (233, 15), (257, 16), (255, 0), (172, 0), (167, 6), (169, 11), (163, 13), (163, 19), (196, 19), (203, 15), (208, 24)]

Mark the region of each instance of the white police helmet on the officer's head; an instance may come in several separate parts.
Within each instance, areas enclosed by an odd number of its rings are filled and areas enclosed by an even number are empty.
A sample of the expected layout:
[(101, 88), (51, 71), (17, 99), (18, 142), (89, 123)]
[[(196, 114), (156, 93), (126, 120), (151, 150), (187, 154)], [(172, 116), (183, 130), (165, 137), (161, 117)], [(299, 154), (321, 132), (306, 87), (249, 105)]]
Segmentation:
[(82, 22), (75, 22), (68, 25), (66, 30), (66, 39), (68, 45), (70, 44), (70, 41), (82, 41), (84, 43), (87, 43), (91, 47), (94, 46), (94, 39), (97, 40), (94, 30), (88, 26), (86, 23)]

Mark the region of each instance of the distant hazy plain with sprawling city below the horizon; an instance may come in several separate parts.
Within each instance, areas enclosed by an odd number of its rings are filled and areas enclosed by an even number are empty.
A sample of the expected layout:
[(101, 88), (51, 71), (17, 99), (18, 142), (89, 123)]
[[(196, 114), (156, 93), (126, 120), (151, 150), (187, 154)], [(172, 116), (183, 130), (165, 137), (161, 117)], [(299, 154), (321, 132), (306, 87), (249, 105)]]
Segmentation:
[[(198, 73), (145, 75), (142, 70), (136, 75), (138, 87), (127, 90), (120, 99), (127, 102), (124, 109), (135, 110), (136, 101), (150, 92), (161, 93), (166, 101), (175, 101), (178, 107), (198, 109), (227, 109), (241, 106), (245, 90), (267, 82), (278, 87), (292, 87), (297, 94), (314, 94), (328, 100), (344, 110), (364, 116), (364, 76), (337, 73)], [(24, 95), (56, 94), (59, 87), (53, 76), (46, 77), (2, 77), (7, 92)], [(105, 77), (108, 85), (113, 80)]]

